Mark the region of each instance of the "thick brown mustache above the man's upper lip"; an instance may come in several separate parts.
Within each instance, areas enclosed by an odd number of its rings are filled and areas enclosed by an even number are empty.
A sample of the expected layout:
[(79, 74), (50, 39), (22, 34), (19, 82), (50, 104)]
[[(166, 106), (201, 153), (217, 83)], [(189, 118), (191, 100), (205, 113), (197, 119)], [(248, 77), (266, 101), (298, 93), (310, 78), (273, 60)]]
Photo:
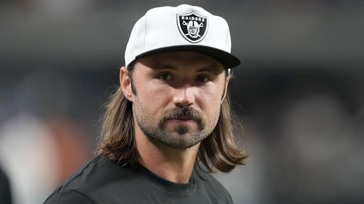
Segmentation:
[(195, 120), (200, 122), (203, 120), (203, 115), (201, 112), (191, 107), (173, 108), (166, 110), (162, 114), (161, 120), (164, 121), (167, 119)]

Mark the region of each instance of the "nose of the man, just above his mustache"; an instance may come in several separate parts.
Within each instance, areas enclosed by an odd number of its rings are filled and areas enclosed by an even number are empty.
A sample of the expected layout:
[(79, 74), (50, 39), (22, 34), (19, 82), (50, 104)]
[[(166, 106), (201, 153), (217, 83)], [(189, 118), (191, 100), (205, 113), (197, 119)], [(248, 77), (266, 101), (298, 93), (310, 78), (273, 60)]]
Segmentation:
[(175, 89), (173, 104), (179, 108), (191, 106), (195, 103), (194, 87), (184, 86)]

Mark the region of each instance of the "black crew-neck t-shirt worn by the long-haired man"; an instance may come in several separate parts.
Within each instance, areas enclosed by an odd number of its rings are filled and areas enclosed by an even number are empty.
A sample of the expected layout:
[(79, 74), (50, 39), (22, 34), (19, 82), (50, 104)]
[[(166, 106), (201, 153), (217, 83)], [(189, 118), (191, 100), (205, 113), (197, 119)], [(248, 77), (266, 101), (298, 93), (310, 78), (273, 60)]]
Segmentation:
[(229, 192), (209, 173), (194, 170), (187, 184), (163, 179), (142, 165), (116, 165), (99, 156), (61, 184), (44, 204), (51, 203), (233, 203)]

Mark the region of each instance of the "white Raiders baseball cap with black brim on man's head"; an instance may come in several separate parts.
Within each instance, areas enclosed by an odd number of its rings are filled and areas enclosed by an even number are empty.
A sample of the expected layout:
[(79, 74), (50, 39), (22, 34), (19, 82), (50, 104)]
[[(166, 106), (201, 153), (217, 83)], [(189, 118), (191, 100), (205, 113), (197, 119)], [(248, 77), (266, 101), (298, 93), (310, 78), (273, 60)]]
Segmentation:
[(131, 30), (125, 49), (125, 66), (143, 56), (171, 51), (206, 54), (227, 69), (241, 63), (231, 54), (229, 25), (225, 19), (196, 6), (149, 10)]

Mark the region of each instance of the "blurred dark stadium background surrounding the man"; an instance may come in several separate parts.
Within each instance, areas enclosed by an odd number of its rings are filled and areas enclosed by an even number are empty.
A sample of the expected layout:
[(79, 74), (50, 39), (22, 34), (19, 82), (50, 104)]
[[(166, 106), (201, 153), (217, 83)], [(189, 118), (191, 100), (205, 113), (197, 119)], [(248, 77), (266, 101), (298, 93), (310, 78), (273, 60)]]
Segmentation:
[(93, 157), (133, 24), (182, 3), (224, 17), (243, 61), (230, 93), (250, 158), (215, 175), (235, 203), (364, 203), (364, 1), (3, 0), (0, 167), (13, 203), (42, 203)]

